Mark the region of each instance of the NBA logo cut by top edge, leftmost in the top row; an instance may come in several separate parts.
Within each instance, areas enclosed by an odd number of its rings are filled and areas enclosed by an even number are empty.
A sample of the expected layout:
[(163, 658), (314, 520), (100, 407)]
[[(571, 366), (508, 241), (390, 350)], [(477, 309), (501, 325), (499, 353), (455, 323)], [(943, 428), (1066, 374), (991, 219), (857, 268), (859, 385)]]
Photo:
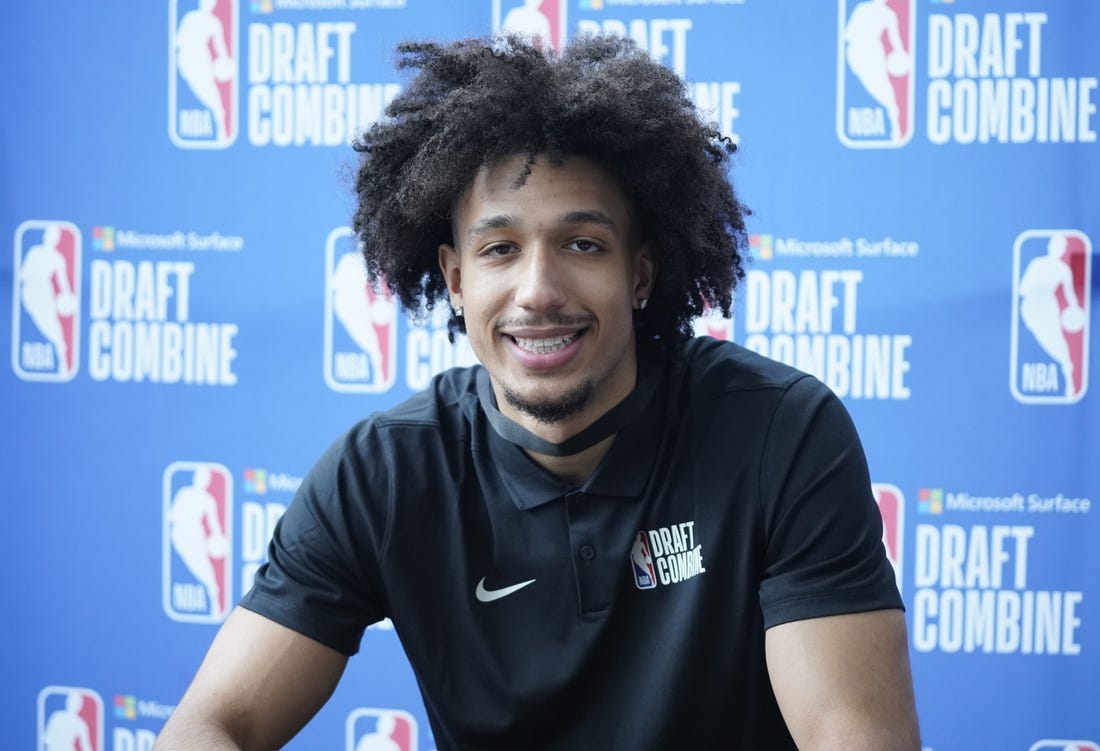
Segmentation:
[(237, 140), (238, 0), (169, 0), (168, 137), (180, 148)]

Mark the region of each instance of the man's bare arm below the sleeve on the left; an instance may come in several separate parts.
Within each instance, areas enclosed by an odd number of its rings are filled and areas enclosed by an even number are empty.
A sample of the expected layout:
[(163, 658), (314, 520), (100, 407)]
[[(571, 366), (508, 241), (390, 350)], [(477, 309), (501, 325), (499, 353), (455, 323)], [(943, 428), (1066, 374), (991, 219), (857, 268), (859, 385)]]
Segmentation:
[(328, 700), (348, 658), (237, 608), (153, 751), (282, 748)]

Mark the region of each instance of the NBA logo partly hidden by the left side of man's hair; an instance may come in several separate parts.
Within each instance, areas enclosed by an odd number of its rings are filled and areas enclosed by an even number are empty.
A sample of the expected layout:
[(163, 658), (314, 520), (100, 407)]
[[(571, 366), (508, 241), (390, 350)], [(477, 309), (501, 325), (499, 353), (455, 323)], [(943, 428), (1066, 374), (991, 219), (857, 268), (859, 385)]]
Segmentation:
[(324, 264), (324, 383), (334, 391), (388, 390), (397, 372), (397, 301), (367, 280), (350, 229), (329, 233)]

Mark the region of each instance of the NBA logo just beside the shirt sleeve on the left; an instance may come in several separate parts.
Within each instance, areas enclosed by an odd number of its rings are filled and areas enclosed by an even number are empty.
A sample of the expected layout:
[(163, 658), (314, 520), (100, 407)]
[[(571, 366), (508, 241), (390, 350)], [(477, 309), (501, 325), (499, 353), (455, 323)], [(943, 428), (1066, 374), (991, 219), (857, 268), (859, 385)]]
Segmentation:
[(221, 464), (174, 462), (164, 471), (164, 611), (218, 623), (232, 604), (233, 477)]

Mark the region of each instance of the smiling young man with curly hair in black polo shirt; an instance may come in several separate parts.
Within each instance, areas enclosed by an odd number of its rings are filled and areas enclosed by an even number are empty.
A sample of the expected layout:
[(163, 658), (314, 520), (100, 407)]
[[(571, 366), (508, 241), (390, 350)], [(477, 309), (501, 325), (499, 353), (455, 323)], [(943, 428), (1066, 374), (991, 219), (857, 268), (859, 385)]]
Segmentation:
[(384, 617), (439, 749), (919, 749), (846, 411), (690, 336), (743, 273), (733, 146), (628, 42), (403, 52), (355, 227), (483, 367), (321, 457), (156, 749), (278, 748)]

